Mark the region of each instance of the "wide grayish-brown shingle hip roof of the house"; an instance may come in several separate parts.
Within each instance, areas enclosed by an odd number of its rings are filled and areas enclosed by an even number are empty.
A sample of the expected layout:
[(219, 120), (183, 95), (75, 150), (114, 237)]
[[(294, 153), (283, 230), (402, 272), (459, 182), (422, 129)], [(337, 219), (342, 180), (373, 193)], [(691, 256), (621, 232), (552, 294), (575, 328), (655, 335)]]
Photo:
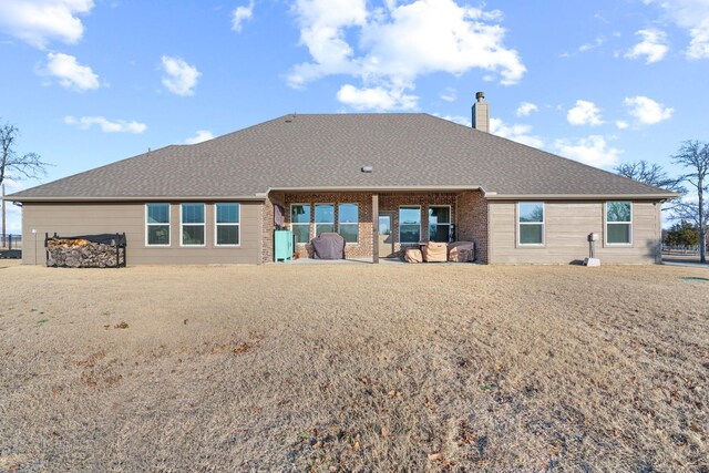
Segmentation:
[[(373, 166), (371, 174), (362, 173)], [(275, 188), (471, 188), (489, 196), (671, 197), (428, 114), (286, 115), (172, 145), (10, 196), (14, 200), (258, 197)]]

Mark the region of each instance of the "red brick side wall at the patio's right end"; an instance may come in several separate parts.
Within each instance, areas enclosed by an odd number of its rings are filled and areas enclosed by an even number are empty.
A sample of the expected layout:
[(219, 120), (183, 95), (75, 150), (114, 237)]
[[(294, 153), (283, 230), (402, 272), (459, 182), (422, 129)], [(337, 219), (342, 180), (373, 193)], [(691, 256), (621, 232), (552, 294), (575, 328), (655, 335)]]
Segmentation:
[(487, 200), (480, 191), (462, 192), (458, 199), (456, 239), (475, 241), (477, 260), (487, 263)]

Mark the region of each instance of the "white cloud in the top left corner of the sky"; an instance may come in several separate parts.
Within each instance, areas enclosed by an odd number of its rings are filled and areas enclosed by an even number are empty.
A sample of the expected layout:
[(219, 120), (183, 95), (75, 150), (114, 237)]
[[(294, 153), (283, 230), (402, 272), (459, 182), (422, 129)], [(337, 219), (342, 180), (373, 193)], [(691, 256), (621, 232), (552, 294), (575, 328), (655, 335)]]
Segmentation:
[(93, 0), (2, 0), (0, 31), (44, 49), (51, 40), (76, 43), (84, 33), (79, 14), (86, 14)]

